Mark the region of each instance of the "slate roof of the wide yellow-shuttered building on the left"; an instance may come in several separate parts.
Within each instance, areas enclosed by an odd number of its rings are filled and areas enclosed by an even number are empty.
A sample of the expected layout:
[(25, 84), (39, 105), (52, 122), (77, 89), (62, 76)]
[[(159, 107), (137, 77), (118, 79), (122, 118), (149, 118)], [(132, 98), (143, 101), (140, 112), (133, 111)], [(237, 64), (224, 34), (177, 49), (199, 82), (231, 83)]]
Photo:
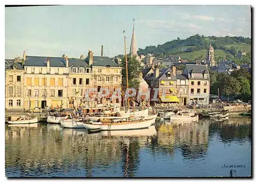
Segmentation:
[(24, 66), (47, 66), (47, 59), (50, 67), (66, 67), (66, 60), (62, 57), (26, 56)]

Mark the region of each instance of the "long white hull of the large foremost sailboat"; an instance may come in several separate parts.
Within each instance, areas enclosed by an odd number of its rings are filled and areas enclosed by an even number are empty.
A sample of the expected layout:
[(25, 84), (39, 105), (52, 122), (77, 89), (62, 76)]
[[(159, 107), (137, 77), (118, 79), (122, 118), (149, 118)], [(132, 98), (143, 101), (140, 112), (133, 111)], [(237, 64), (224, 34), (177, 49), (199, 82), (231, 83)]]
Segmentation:
[[(155, 115), (157, 116), (157, 115)], [(84, 123), (83, 126), (88, 130), (133, 130), (133, 129), (144, 129), (151, 126), (156, 121), (156, 117), (153, 119), (147, 119), (144, 121), (135, 122), (123, 122), (123, 123), (101, 123), (98, 122), (88, 124)]]

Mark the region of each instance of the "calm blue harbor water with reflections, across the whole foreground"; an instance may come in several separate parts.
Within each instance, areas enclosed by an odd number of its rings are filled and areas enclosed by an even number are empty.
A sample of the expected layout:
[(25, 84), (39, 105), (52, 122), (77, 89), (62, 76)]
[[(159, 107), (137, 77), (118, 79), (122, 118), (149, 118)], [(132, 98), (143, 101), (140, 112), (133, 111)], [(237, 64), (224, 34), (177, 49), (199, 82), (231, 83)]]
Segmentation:
[(5, 126), (7, 177), (251, 176), (251, 118), (101, 131)]

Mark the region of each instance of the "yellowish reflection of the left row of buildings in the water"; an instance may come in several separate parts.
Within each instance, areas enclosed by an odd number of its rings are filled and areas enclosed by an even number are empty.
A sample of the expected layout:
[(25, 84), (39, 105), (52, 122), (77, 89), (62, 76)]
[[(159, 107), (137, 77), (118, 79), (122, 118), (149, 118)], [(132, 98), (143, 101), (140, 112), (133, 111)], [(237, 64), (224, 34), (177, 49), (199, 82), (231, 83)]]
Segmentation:
[(92, 176), (96, 168), (122, 161), (126, 176), (134, 176), (139, 150), (147, 141), (146, 136), (103, 136), (43, 124), (37, 128), (6, 127), (5, 133), (6, 168), (20, 169), (23, 175), (35, 171), (36, 175), (63, 174), (78, 168), (86, 171), (82, 176)]

